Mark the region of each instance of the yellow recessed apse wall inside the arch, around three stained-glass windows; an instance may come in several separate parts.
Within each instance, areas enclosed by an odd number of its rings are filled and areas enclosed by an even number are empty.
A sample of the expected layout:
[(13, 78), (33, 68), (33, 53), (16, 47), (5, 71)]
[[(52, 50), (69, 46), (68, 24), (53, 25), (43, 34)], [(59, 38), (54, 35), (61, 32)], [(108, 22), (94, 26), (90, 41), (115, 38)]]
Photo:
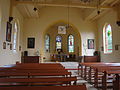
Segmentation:
[[(45, 57), (51, 56), (54, 54), (58, 54), (59, 52), (65, 55), (73, 54), (75, 56), (81, 55), (81, 36), (79, 31), (76, 29), (76, 27), (72, 24), (69, 26), (66, 26), (67, 23), (65, 22), (57, 22), (53, 25), (49, 26), (47, 30), (44, 32), (44, 37), (49, 34), (50, 37), (50, 50), (49, 52), (46, 52), (45, 45), (44, 45), (44, 55)], [(73, 42), (73, 51), (69, 51), (69, 39), (72, 35)], [(61, 49), (56, 49), (56, 38), (60, 37), (60, 45)], [(49, 55), (48, 55), (49, 54)], [(50, 57), (46, 58), (46, 60), (49, 60)]]

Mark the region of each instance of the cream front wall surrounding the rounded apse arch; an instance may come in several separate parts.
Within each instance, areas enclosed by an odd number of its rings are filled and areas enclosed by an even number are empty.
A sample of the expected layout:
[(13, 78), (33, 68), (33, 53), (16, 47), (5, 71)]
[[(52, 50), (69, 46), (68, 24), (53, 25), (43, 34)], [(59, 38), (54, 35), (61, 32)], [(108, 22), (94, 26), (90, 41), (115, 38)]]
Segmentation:
[[(83, 43), (87, 46), (87, 39), (95, 39), (97, 42), (97, 25), (94, 22), (85, 22), (82, 19), (82, 12), (77, 8), (70, 8), (69, 22), (76, 27), (81, 34), (82, 39), (82, 55), (92, 55), (96, 49), (87, 49), (84, 52)], [(26, 19), (24, 22), (24, 50), (29, 52), (29, 55), (34, 55), (36, 50), (39, 50), (42, 56), (44, 52), (44, 33), (56, 22), (68, 21), (67, 8), (62, 7), (45, 7), (40, 10), (39, 19)], [(27, 38), (35, 37), (35, 49), (27, 49)]]

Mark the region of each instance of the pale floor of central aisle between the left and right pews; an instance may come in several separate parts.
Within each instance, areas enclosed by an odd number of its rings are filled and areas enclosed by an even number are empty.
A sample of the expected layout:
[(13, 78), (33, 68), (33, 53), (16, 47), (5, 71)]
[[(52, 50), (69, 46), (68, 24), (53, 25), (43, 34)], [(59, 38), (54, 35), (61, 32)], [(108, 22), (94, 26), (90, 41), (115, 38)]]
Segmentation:
[[(78, 68), (78, 63), (77, 62), (60, 62), (66, 69), (77, 69)], [(69, 70), (72, 72), (73, 76), (77, 76), (78, 81), (77, 84), (83, 84), (85, 83), (87, 86), (87, 90), (98, 90), (93, 87), (93, 85), (90, 85), (87, 83), (87, 81), (83, 80), (80, 76), (78, 76), (78, 70)]]

